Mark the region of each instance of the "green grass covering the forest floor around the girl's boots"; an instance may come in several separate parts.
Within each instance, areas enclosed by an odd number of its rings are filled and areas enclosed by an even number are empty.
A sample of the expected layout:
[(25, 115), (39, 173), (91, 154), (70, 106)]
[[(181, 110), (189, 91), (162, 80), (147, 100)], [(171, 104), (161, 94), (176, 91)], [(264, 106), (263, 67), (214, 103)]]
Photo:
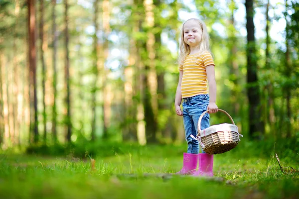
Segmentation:
[[(211, 179), (156, 175), (178, 171), (184, 151), (185, 145), (126, 148), (121, 154), (91, 157), (94, 169), (88, 156), (2, 152), (0, 199), (299, 198), (298, 142), (241, 142), (214, 156)], [(282, 172), (275, 153), (282, 166), (294, 170)]]

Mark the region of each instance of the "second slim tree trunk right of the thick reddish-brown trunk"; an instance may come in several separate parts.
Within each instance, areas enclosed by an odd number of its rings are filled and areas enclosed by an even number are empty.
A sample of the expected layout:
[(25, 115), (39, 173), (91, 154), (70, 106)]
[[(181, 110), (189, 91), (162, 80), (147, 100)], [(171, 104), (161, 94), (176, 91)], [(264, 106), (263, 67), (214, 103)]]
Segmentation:
[(56, 57), (57, 57), (57, 32), (56, 32), (56, 14), (55, 14), (56, 0), (52, 0), (52, 42), (53, 42), (53, 55), (52, 55), (52, 65), (53, 65), (53, 105), (52, 105), (52, 138), (53, 142), (57, 142), (57, 130), (56, 130), (56, 98), (57, 98), (57, 66), (56, 66)]

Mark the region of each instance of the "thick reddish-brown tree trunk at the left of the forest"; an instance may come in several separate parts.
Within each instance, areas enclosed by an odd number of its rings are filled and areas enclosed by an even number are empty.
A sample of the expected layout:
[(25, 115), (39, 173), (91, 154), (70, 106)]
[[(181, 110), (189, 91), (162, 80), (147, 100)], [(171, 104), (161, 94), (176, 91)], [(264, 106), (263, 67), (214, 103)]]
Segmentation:
[(34, 0), (27, 0), (28, 37), (29, 37), (29, 98), (30, 98), (30, 133), (34, 143), (38, 142), (37, 94), (36, 94), (36, 48), (35, 48), (35, 7)]

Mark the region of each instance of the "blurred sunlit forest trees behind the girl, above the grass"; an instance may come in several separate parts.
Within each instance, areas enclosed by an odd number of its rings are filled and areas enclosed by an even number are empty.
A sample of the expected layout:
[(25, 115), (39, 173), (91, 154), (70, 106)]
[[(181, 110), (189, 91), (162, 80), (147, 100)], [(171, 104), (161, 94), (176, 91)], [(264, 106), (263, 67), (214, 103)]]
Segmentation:
[(217, 104), (240, 132), (299, 136), (296, 0), (0, 0), (0, 10), (2, 149), (183, 142), (173, 103), (181, 24), (191, 16), (207, 24)]

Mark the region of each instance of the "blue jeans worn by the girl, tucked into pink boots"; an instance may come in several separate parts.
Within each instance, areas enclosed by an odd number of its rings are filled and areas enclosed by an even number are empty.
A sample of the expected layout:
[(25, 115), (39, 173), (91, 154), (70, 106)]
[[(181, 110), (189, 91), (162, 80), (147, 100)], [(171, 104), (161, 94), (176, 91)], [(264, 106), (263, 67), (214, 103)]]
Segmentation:
[[(196, 137), (197, 124), (200, 115), (207, 110), (209, 105), (209, 95), (197, 95), (190, 98), (183, 98), (183, 119), (186, 134), (186, 141), (188, 143), (187, 153), (199, 153), (199, 143), (190, 135)], [(200, 130), (210, 126), (210, 115), (206, 113), (201, 119)], [(204, 153), (204, 151), (202, 150)]]

